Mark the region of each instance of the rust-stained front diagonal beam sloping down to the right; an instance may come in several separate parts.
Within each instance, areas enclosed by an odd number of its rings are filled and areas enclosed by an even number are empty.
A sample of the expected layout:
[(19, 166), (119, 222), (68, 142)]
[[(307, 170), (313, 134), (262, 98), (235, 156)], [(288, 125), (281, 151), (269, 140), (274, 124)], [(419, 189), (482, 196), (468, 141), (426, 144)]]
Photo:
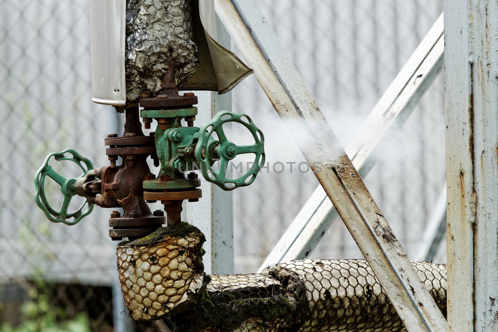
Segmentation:
[(408, 331), (447, 330), (363, 180), (254, 0), (215, 0), (216, 11)]

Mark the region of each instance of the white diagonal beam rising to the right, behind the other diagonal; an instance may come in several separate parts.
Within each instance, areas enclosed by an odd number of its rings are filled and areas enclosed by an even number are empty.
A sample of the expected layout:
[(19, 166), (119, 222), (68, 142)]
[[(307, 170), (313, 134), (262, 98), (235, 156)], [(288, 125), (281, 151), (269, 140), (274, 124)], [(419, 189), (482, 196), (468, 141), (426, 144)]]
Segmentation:
[[(382, 150), (399, 131), (443, 66), (443, 14), (439, 16), (346, 147), (361, 177), (367, 176)], [(304, 259), (338, 216), (318, 186), (259, 267)]]

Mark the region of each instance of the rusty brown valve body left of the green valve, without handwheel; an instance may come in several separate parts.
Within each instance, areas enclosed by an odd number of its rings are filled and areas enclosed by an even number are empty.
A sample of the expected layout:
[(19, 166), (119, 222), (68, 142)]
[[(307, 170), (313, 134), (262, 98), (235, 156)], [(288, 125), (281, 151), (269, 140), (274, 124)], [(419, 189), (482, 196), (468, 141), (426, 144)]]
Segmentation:
[[(142, 181), (151, 174), (147, 157), (155, 156), (154, 137), (143, 134), (138, 107), (126, 109), (124, 134), (117, 136), (110, 134), (105, 140), (111, 165), (97, 169), (102, 194), (95, 203), (103, 208), (122, 207), (123, 216), (119, 212), (111, 214), (109, 226), (113, 228), (109, 230), (109, 236), (114, 240), (133, 239), (145, 236), (165, 223), (164, 214), (153, 214), (143, 200)], [(118, 156), (123, 163), (116, 166)]]

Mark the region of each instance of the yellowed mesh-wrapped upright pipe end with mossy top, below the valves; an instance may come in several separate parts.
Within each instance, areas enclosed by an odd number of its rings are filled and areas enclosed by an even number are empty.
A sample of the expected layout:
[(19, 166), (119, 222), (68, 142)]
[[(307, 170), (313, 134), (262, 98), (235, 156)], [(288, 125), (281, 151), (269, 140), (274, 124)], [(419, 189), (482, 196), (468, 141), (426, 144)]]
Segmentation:
[(136, 321), (173, 314), (203, 284), (204, 235), (181, 222), (117, 246), (124, 302)]

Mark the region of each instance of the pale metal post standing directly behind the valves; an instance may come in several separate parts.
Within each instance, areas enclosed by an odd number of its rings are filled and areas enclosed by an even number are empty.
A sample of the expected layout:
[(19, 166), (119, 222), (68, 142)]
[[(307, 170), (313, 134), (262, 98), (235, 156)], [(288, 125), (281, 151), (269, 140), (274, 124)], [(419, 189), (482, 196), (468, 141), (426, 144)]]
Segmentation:
[[(230, 49), (230, 35), (219, 19), (214, 17), (216, 39), (223, 47)], [(213, 34), (211, 33), (213, 36)], [(198, 91), (199, 113), (196, 122), (205, 123), (218, 111), (232, 111), (232, 93), (223, 95), (211, 91)], [(204, 271), (207, 274), (234, 273), (234, 230), (232, 192), (217, 185), (201, 182), (202, 198), (196, 203), (187, 203), (187, 221), (199, 227), (206, 236), (203, 248)]]

